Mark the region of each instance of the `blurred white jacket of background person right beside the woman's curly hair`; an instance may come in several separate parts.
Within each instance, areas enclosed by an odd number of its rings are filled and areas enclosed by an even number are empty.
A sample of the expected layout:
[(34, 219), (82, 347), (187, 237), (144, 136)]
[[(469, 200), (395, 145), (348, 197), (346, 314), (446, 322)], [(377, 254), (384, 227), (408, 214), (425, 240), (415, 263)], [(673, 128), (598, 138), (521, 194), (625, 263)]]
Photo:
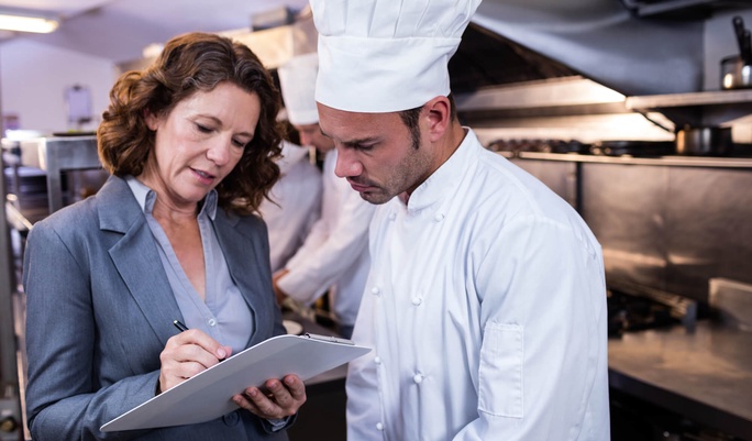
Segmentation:
[(277, 165), (281, 177), (269, 191), (274, 202), (264, 199), (258, 208), (269, 230), (273, 273), (285, 266), (320, 218), (323, 189), (321, 172), (309, 162), (306, 148), (283, 142)]

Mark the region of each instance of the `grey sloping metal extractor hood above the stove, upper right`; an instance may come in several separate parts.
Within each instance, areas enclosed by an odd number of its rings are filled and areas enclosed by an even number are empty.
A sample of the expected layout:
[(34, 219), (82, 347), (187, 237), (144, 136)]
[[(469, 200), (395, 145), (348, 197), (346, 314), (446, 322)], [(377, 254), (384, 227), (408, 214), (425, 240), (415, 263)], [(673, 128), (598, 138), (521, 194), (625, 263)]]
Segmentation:
[[(474, 62), (495, 74), (534, 74), (537, 67), (546, 77), (576, 73), (627, 96), (694, 92), (701, 87), (701, 18), (641, 18), (617, 0), (486, 0), (473, 22), (457, 57), (480, 56), (476, 40), (486, 40), (497, 47), (484, 48), (490, 51), (488, 56), (484, 53)], [(505, 52), (518, 56), (507, 57)]]

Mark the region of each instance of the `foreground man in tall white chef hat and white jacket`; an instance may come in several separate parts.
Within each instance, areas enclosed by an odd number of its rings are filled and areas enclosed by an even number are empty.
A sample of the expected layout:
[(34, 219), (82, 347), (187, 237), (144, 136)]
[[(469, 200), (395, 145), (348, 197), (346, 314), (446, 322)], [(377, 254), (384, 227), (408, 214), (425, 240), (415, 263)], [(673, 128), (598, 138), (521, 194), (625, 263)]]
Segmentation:
[(479, 0), (311, 0), (319, 125), (377, 205), (347, 439), (605, 441), (601, 249), (462, 126), (447, 62)]

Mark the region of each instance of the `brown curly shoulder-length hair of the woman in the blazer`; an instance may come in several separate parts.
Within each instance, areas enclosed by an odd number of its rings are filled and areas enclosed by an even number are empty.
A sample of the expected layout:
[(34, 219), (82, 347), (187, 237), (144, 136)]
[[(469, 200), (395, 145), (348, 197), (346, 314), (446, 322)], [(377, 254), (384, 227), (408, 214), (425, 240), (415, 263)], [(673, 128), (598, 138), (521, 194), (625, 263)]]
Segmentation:
[(261, 114), (253, 140), (233, 170), (217, 186), (219, 206), (237, 214), (256, 212), (279, 178), (283, 128), (279, 91), (258, 57), (245, 45), (215, 34), (178, 35), (143, 71), (120, 76), (97, 130), (99, 158), (115, 176), (139, 176), (154, 148), (145, 115), (166, 114), (197, 91), (230, 81), (256, 93)]

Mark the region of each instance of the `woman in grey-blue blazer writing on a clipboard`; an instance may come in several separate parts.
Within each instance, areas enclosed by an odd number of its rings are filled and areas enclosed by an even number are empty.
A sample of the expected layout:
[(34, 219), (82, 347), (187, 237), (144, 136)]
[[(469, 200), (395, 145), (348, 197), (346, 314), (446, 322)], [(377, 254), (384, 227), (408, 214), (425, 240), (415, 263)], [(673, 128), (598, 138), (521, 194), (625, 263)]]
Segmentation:
[[(45, 440), (286, 439), (299, 377), (232, 397), (192, 426), (102, 433), (107, 421), (245, 348), (284, 333), (266, 227), (253, 213), (279, 176), (279, 97), (245, 46), (169, 41), (123, 74), (98, 131), (112, 174), (29, 235), (29, 427)], [(178, 332), (174, 320), (187, 324)]]

